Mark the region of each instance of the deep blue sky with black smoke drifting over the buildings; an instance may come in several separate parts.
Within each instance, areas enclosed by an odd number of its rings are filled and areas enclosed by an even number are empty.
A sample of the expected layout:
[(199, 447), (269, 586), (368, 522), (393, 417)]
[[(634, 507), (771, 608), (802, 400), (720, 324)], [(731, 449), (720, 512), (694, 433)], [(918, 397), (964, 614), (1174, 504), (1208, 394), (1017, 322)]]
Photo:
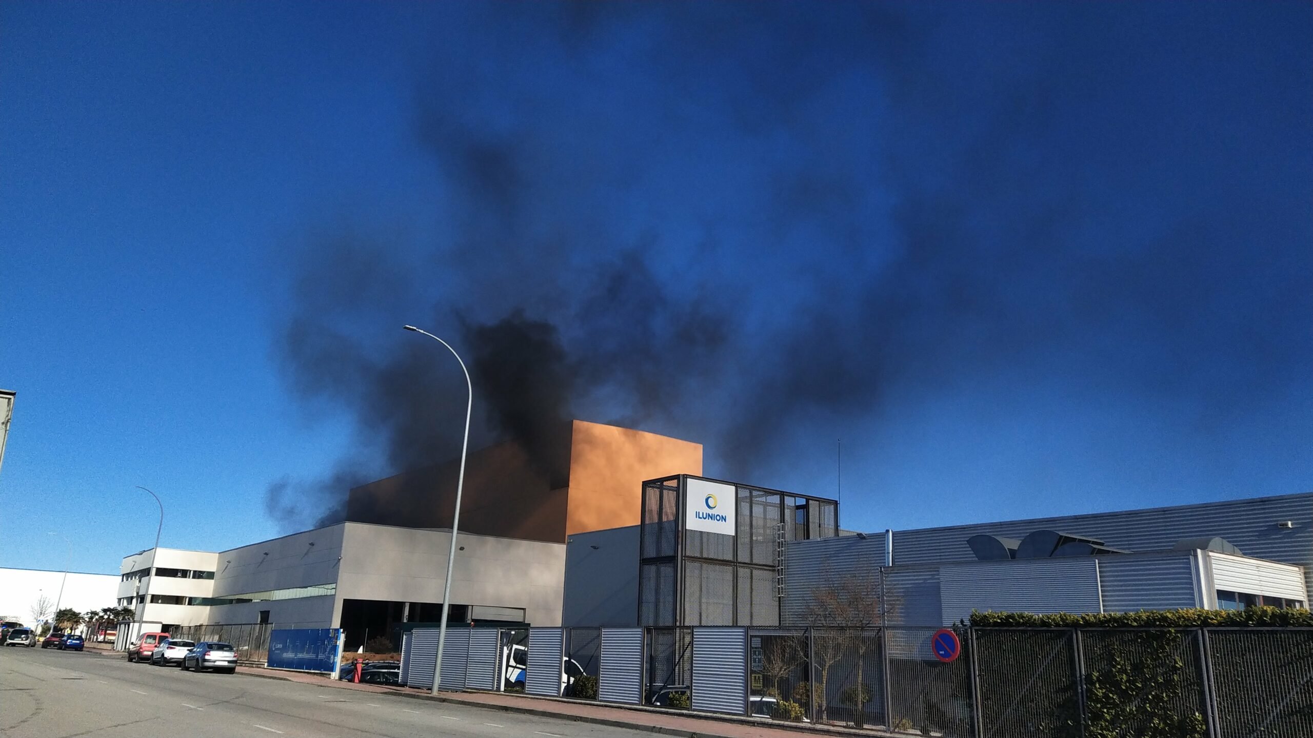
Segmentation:
[[(113, 570), (154, 540), (135, 485), (213, 550), (442, 457), (376, 402), (429, 351), (397, 326), (477, 353), (516, 310), (571, 414), (710, 475), (829, 494), (843, 437), (846, 527), (1313, 487), (1305, 3), (7, 3), (0, 32), (0, 566), (59, 569), (59, 531)], [(416, 423), (461, 390), (423, 356)]]

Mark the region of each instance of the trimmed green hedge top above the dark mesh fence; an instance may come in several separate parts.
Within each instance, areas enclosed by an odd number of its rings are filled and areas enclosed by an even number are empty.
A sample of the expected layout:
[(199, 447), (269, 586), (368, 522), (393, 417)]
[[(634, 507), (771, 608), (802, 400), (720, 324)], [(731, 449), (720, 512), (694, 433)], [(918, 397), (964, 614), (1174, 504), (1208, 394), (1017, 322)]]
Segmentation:
[(1087, 615), (972, 612), (973, 628), (1313, 628), (1313, 612), (1251, 607), (1245, 609), (1146, 609)]

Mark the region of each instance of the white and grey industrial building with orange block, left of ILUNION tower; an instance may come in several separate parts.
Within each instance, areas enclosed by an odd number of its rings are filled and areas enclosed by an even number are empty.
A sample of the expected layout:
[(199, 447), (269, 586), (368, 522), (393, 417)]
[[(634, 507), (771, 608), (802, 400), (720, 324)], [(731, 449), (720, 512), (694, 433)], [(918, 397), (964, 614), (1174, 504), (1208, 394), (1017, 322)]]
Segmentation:
[[(473, 452), (450, 619), (561, 625), (572, 534), (637, 528), (643, 479), (700, 474), (701, 445), (575, 420), (549, 458), (513, 443)], [(343, 628), (347, 647), (439, 620), (457, 462), (351, 490), (347, 521), (226, 552), (144, 550), (121, 563), (125, 633), (269, 622)]]

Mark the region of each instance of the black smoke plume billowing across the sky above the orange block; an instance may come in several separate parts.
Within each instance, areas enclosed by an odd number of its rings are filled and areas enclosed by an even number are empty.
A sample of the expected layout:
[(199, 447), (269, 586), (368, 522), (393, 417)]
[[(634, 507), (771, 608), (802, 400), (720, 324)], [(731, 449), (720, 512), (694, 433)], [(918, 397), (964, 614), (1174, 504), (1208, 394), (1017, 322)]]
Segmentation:
[(277, 353), (360, 443), (270, 512), (328, 521), (349, 485), (456, 456), (463, 381), (411, 322), (470, 360), (475, 448), (548, 460), (579, 416), (752, 479), (999, 377), (1134, 398), (1182, 443), (1306, 387), (1309, 177), (1268, 184), (1190, 88), (1141, 95), (1119, 55), (1157, 37), (1116, 13), (962, 11), (461, 7), (415, 98), (432, 211), (309, 239)]

